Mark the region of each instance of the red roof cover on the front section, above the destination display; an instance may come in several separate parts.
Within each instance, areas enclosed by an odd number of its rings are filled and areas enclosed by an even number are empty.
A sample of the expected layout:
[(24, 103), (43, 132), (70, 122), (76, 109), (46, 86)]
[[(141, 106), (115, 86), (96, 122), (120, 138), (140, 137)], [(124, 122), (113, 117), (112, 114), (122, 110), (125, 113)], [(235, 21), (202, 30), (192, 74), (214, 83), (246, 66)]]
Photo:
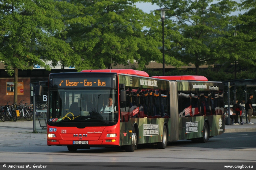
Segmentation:
[(122, 74), (131, 74), (143, 77), (149, 77), (146, 72), (132, 69), (105, 69), (105, 70), (83, 70), (81, 72), (101, 72), (101, 73), (122, 73)]

